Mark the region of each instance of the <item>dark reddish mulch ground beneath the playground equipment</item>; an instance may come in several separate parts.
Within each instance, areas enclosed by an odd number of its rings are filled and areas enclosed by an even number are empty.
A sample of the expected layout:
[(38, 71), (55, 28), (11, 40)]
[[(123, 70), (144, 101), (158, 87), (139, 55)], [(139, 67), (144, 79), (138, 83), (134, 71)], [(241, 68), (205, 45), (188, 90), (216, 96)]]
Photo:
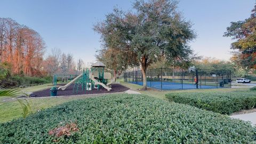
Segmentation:
[[(59, 90), (57, 92), (57, 96), (63, 96), (63, 95), (81, 95), (81, 94), (100, 94), (100, 93), (116, 93), (116, 92), (125, 92), (129, 90), (128, 87), (125, 87), (121, 84), (113, 84), (111, 91), (107, 91), (103, 87), (101, 87), (99, 90), (93, 89), (91, 91), (82, 91), (81, 85), (79, 85), (78, 88), (78, 93), (76, 93), (76, 87), (75, 87), (75, 93), (73, 93), (73, 87), (74, 84), (71, 84), (70, 86), (67, 87), (66, 90), (62, 91)], [(31, 97), (50, 97), (51, 92), (50, 89), (42, 90), (42, 91), (37, 91), (34, 92), (33, 94), (30, 95)]]

